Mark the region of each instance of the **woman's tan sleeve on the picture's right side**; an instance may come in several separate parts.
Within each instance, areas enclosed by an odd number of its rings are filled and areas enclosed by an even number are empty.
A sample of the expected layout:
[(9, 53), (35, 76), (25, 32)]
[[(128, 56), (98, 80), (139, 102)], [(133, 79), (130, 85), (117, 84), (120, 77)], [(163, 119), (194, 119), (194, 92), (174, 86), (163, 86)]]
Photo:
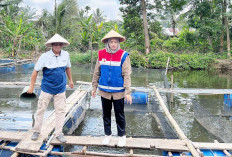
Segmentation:
[(124, 61), (122, 65), (122, 77), (124, 79), (124, 88), (125, 88), (125, 95), (131, 94), (131, 63), (130, 63), (130, 57), (129, 55), (126, 57), (126, 60)]

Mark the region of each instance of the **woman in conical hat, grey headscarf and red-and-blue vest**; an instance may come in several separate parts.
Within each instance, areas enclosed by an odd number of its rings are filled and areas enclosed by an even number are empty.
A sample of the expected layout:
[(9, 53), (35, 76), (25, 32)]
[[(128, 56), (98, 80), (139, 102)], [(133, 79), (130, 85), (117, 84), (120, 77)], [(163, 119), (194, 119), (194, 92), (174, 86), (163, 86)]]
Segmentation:
[(132, 103), (129, 53), (120, 49), (120, 42), (124, 42), (125, 40), (125, 37), (114, 30), (111, 30), (101, 40), (105, 43), (106, 48), (98, 52), (98, 60), (92, 80), (92, 96), (96, 96), (98, 87), (102, 100), (105, 131), (102, 143), (107, 145), (111, 139), (111, 109), (113, 103), (119, 136), (119, 147), (123, 147), (126, 144), (124, 99), (127, 103)]

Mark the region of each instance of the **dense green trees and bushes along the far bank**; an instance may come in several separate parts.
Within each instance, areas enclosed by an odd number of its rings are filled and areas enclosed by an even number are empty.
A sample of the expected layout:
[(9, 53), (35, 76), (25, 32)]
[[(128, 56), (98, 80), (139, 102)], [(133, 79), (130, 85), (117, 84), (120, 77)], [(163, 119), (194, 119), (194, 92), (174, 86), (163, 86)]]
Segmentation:
[[(145, 37), (141, 0), (119, 0), (123, 21), (106, 21), (100, 9), (78, 7), (77, 0), (62, 0), (54, 12), (36, 16), (21, 0), (0, 2), (0, 51), (4, 56), (25, 57), (25, 52), (44, 52), (44, 43), (55, 33), (71, 43), (66, 49), (73, 63), (90, 63), (104, 48), (102, 37), (114, 29), (127, 40), (121, 47), (130, 52), (132, 66), (175, 69), (207, 69), (216, 58), (230, 54), (230, 1), (147, 0), (150, 54), (144, 55)], [(143, 7), (144, 8), (144, 7)], [(167, 34), (164, 28), (176, 30)], [(227, 30), (228, 30), (227, 29)], [(178, 33), (178, 34), (177, 34)], [(226, 42), (227, 41), (227, 42)], [(31, 56), (32, 57), (32, 56)]]

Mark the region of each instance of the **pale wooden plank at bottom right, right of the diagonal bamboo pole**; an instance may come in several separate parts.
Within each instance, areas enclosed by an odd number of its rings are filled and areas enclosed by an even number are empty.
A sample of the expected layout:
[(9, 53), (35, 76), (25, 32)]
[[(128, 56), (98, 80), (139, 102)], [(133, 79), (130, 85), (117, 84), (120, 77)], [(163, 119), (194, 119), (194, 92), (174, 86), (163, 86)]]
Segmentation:
[(193, 145), (199, 149), (232, 150), (232, 143), (193, 142)]

